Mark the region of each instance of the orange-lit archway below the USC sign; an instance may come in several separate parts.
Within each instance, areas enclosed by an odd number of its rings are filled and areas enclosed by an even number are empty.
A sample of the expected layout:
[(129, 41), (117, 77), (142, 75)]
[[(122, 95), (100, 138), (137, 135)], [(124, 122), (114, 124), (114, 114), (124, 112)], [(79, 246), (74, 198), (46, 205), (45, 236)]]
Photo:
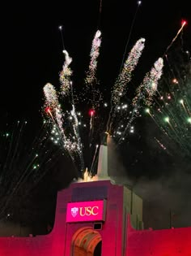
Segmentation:
[(70, 256), (101, 256), (101, 236), (91, 227), (79, 228), (71, 242)]

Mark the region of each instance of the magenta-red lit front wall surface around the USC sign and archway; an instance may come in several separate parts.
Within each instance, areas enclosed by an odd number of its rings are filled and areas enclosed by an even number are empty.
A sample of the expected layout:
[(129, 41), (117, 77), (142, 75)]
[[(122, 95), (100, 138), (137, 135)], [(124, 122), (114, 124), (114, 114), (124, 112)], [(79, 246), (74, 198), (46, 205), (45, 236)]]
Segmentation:
[[(68, 205), (68, 202), (74, 202), (75, 189), (76, 197), (79, 194), (79, 202), (82, 202), (80, 197), (83, 197), (83, 193), (86, 195), (89, 191), (91, 195), (93, 189), (96, 189), (92, 200), (86, 200), (88, 206), (90, 202), (94, 206), (97, 202), (104, 202), (104, 198), (99, 197), (102, 193), (107, 193), (105, 221), (103, 228), (99, 230), (102, 238), (102, 256), (191, 256), (191, 227), (156, 231), (134, 230), (129, 218), (122, 218), (123, 187), (112, 185), (109, 181), (71, 184), (68, 189), (59, 192), (53, 231), (46, 236), (0, 237), (0, 256), (70, 256), (74, 234), (79, 228), (92, 228), (94, 224), (94, 221), (66, 223), (67, 209), (70, 209), (67, 206), (73, 207)], [(82, 189), (83, 193), (79, 193), (78, 189)], [(124, 225), (125, 241), (122, 235)]]

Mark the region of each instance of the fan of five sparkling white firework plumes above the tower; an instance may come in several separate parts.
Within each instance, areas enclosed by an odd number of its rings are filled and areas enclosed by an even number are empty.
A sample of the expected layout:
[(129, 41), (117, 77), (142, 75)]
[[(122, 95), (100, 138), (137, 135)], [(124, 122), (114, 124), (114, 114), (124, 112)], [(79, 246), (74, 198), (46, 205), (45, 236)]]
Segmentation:
[[(140, 2), (138, 3), (138, 5)], [(182, 27), (183, 28), (183, 27)], [(181, 30), (182, 30), (181, 28)], [(180, 30), (180, 31), (181, 31)], [(180, 33), (177, 33), (176, 37)], [(127, 98), (127, 88), (129, 82), (132, 80), (133, 72), (135, 67), (138, 65), (138, 60), (142, 55), (142, 51), (145, 47), (145, 39), (140, 38), (133, 48), (129, 51), (128, 57), (123, 64), (123, 68), (117, 80), (112, 88), (110, 106), (105, 102), (103, 108), (100, 104), (101, 94), (98, 88), (98, 80), (96, 79), (98, 57), (100, 55), (100, 30), (96, 32), (96, 35), (92, 41), (91, 46), (91, 60), (85, 77), (85, 85), (82, 88), (83, 98), (82, 102), (86, 102), (87, 106), (84, 107), (82, 114), (78, 114), (78, 104), (82, 107), (79, 95), (75, 95), (73, 91), (73, 85), (71, 81), (71, 59), (69, 54), (64, 51), (65, 63), (60, 73), (60, 92), (55, 93), (53, 89), (49, 89), (52, 96), (46, 99), (45, 106), (49, 107), (48, 111), (52, 114), (52, 127), (54, 134), (57, 133), (57, 144), (62, 146), (63, 151), (69, 152), (74, 163), (80, 163), (80, 175), (85, 171), (84, 167), (87, 166), (87, 170), (93, 173), (93, 166), (96, 162), (95, 145), (100, 144), (100, 135), (104, 134), (105, 131), (112, 137), (116, 138), (117, 143), (125, 141), (128, 132), (134, 134), (134, 119), (141, 116), (141, 110), (144, 106), (150, 107), (155, 102), (155, 96), (159, 94), (159, 80), (163, 75), (163, 58), (159, 58), (150, 72), (146, 73), (142, 80), (142, 84), (138, 86), (133, 99)], [(176, 37), (173, 41), (176, 40)], [(173, 42), (172, 41), (172, 42)], [(50, 88), (50, 86), (49, 86)], [(158, 93), (158, 94), (157, 94)], [(59, 95), (59, 100), (56, 95)], [(45, 95), (46, 96), (46, 95)], [(68, 97), (68, 100), (67, 98)], [(74, 99), (77, 99), (74, 100)], [(62, 102), (65, 106), (62, 107)], [(182, 109), (185, 113), (189, 113), (188, 102), (185, 100), (181, 103)], [(107, 109), (107, 111), (106, 111)], [(155, 123), (157, 120), (152, 111), (148, 109), (147, 113), (151, 116)], [(105, 124), (105, 116), (108, 116), (108, 122)], [(51, 115), (50, 115), (51, 116)], [(188, 123), (190, 122), (190, 116), (187, 118)], [(168, 119), (168, 126), (171, 124), (171, 120)], [(107, 126), (107, 127), (105, 127)], [(171, 124), (173, 132), (175, 132), (174, 125)], [(163, 128), (163, 131), (165, 129)], [(167, 132), (167, 131), (166, 131)], [(163, 145), (161, 143), (161, 145)], [(85, 153), (86, 151), (86, 153)], [(88, 151), (88, 152), (87, 152)], [(84, 159), (84, 156), (89, 156), (88, 160)], [(79, 169), (77, 167), (77, 169)]]

